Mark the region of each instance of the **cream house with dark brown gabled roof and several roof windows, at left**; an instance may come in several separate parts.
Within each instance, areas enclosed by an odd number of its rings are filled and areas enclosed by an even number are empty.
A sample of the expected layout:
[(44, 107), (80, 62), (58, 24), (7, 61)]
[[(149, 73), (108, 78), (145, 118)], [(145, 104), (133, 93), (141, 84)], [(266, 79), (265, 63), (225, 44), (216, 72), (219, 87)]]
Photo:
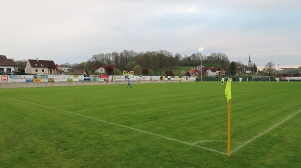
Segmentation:
[(28, 59), (25, 73), (29, 74), (57, 74), (57, 67), (53, 60)]

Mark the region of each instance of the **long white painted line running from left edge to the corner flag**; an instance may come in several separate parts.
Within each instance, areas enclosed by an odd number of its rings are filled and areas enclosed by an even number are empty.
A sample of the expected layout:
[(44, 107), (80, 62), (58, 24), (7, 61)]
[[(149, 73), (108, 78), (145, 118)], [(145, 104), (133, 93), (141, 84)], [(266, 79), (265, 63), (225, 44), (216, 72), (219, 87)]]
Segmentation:
[[(5, 98), (10, 98), (10, 97), (6, 97), (6, 96), (2, 96), (2, 95), (0, 95), (0, 96), (1, 97), (5, 97)], [(203, 148), (203, 149), (214, 151), (214, 152), (221, 153), (221, 154), (227, 154), (225, 152), (222, 152), (222, 151), (219, 151), (219, 150), (214, 150), (214, 149), (207, 148), (207, 147), (204, 147), (204, 146), (200, 146), (200, 145), (197, 145), (195, 143), (188, 143), (188, 142), (185, 142), (185, 141), (182, 141), (182, 140), (170, 138), (170, 137), (163, 136), (163, 135), (156, 134), (156, 133), (152, 133), (152, 132), (147, 132), (147, 131), (144, 131), (144, 130), (132, 128), (132, 127), (125, 126), (125, 125), (120, 125), (120, 124), (114, 123), (114, 122), (109, 122), (109, 121), (105, 121), (105, 120), (93, 118), (93, 117), (90, 117), (90, 116), (87, 116), (87, 115), (83, 115), (83, 114), (79, 114), (79, 113), (76, 113), (76, 112), (66, 111), (66, 110), (63, 110), (63, 109), (59, 109), (59, 108), (55, 108), (55, 107), (51, 107), (51, 106), (46, 106), (46, 105), (42, 105), (42, 104), (37, 104), (37, 103), (33, 103), (33, 102), (18, 100), (18, 99), (14, 99), (14, 98), (10, 98), (10, 99), (13, 99), (13, 100), (16, 100), (16, 101), (21, 101), (21, 102), (26, 102), (26, 103), (30, 103), (30, 104), (40, 105), (40, 106), (43, 106), (43, 107), (52, 108), (52, 109), (56, 109), (56, 110), (60, 110), (60, 111), (64, 111), (64, 112), (68, 112), (68, 113), (72, 113), (72, 114), (76, 114), (76, 115), (80, 115), (80, 116), (87, 117), (87, 118), (90, 118), (90, 119), (95, 119), (95, 120), (98, 120), (98, 121), (101, 121), (101, 122), (105, 122), (105, 123), (109, 123), (109, 124), (113, 124), (113, 125), (125, 127), (125, 128), (128, 128), (128, 129), (133, 129), (133, 130), (136, 130), (136, 131), (139, 131), (139, 132), (148, 133), (148, 134), (152, 134), (152, 135), (155, 135), (155, 136), (163, 137), (163, 138), (166, 138), (166, 139), (169, 139), (169, 140), (181, 142), (181, 143), (184, 143), (184, 144), (188, 144), (190, 146), (195, 146), (195, 147)]]

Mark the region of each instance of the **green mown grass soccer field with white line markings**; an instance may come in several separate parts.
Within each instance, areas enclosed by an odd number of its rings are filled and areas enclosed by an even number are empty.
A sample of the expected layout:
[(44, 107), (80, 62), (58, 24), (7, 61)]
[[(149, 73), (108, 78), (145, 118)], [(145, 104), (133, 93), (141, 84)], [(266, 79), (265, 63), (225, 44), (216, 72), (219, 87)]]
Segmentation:
[(0, 167), (301, 167), (301, 82), (0, 89)]

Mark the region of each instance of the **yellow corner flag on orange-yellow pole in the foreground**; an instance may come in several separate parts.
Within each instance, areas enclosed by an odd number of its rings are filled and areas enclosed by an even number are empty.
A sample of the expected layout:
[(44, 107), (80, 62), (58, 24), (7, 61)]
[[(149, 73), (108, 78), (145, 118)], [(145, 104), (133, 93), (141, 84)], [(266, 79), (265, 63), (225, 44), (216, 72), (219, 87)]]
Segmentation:
[(227, 102), (228, 102), (228, 149), (227, 149), (227, 156), (230, 157), (231, 154), (231, 149), (230, 149), (230, 144), (231, 144), (231, 79), (228, 78), (226, 89), (225, 89), (225, 94), (227, 97)]

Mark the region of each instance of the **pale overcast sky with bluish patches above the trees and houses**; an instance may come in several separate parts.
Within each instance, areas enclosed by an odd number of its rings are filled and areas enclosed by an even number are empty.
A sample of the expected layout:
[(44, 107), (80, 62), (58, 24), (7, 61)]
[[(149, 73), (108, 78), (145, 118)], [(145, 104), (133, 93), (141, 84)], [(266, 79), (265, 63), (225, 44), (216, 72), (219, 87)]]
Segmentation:
[(98, 53), (226, 53), (301, 65), (301, 0), (0, 0), (0, 55), (80, 63)]

